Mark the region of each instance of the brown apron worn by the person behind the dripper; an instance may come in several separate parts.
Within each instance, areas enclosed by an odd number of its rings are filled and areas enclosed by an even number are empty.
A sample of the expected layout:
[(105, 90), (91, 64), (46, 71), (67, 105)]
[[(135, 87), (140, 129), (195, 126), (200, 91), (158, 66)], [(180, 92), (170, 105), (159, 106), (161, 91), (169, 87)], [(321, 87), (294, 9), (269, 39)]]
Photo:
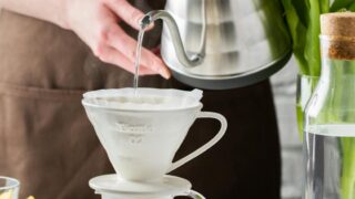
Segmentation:
[[(162, 7), (159, 2), (155, 6)], [(146, 45), (159, 43), (158, 32), (149, 34)], [(140, 82), (191, 90), (160, 76)], [(124, 86), (132, 86), (132, 75), (100, 62), (74, 33), (1, 12), (0, 175), (20, 179), (21, 199), (30, 195), (37, 199), (98, 198), (88, 180), (113, 170), (80, 101), (89, 90)], [(173, 174), (191, 180), (209, 199), (280, 198), (280, 148), (268, 82), (204, 91), (203, 104), (204, 109), (227, 118), (227, 133), (215, 147)], [(176, 156), (205, 143), (217, 128), (213, 121), (197, 121)]]

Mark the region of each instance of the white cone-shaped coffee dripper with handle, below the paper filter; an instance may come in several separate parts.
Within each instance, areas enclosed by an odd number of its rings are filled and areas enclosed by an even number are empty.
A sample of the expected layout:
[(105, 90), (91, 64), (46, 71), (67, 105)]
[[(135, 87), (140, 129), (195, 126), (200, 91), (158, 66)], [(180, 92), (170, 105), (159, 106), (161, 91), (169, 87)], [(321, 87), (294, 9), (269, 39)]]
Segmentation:
[[(199, 101), (165, 109), (115, 108), (85, 100), (82, 104), (113, 168), (125, 180), (159, 180), (212, 147), (226, 130), (226, 119), (217, 113), (201, 112), (202, 104)], [(196, 118), (220, 121), (220, 132), (192, 154), (172, 163)]]

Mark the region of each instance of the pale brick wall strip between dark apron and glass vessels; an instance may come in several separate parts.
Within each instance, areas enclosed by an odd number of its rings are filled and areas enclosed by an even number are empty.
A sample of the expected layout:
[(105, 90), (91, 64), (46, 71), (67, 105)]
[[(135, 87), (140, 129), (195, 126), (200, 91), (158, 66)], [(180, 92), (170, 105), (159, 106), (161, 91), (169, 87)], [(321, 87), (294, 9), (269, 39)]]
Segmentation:
[(274, 101), (282, 146), (282, 198), (302, 198), (303, 156), (296, 123), (296, 74), (297, 65), (292, 59), (272, 77)]

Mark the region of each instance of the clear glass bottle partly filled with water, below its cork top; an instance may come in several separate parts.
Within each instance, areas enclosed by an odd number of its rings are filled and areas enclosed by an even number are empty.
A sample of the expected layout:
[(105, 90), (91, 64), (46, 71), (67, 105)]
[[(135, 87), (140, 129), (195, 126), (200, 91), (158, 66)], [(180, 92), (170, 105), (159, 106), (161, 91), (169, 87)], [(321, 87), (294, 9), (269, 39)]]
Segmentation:
[(355, 40), (322, 35), (321, 44), (322, 74), (305, 111), (304, 199), (355, 199)]

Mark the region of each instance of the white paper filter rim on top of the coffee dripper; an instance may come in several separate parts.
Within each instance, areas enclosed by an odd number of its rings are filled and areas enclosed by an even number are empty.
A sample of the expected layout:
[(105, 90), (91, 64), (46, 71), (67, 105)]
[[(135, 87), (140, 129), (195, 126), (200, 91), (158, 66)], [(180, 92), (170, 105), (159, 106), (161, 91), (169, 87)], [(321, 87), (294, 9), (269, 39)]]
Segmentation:
[(202, 98), (201, 90), (181, 91), (140, 87), (98, 90), (83, 94), (84, 102), (102, 107), (135, 111), (175, 109), (195, 106)]

